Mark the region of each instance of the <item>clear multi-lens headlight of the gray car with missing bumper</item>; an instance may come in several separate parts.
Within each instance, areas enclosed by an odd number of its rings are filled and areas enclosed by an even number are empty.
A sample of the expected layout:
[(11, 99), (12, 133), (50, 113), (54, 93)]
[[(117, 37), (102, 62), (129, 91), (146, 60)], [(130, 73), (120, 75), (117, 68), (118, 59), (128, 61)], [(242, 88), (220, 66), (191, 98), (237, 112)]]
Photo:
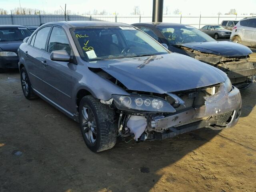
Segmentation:
[(146, 95), (112, 95), (116, 107), (125, 111), (169, 112), (176, 110), (164, 99)]

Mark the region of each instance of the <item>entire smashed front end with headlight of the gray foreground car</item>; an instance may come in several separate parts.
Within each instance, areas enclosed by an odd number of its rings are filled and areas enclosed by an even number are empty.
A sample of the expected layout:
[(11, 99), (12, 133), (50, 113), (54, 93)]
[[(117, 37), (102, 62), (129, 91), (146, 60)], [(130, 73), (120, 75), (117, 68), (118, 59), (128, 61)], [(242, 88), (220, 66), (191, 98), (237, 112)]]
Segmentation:
[(117, 108), (119, 136), (135, 140), (171, 138), (203, 127), (230, 128), (241, 112), (240, 92), (228, 78), (204, 88), (166, 94), (133, 91), (101, 102)]

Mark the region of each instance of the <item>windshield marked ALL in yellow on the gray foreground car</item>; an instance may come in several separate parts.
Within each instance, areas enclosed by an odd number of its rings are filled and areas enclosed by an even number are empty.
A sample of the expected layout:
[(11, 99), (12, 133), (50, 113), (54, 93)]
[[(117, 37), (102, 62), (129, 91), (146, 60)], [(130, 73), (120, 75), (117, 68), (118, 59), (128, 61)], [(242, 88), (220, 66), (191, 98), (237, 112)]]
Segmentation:
[(71, 29), (85, 61), (167, 54), (168, 51), (133, 27), (83, 27)]

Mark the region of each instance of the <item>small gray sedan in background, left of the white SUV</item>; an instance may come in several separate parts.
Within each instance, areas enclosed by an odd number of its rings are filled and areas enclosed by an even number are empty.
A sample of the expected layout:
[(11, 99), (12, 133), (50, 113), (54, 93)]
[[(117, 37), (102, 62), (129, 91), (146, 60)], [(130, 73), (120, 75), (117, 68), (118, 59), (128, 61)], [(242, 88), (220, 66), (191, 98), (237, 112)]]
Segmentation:
[(224, 29), (219, 25), (206, 25), (200, 29), (202, 32), (214, 37), (214, 39), (218, 38), (230, 38), (231, 31)]

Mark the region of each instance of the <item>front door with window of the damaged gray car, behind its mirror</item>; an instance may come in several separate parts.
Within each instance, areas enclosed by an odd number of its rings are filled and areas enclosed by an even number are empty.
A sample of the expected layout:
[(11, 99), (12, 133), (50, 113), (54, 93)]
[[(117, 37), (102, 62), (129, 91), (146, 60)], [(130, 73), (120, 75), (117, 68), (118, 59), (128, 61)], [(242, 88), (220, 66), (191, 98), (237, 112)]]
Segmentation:
[[(47, 64), (43, 79), (46, 90), (45, 96), (58, 106), (72, 112), (74, 100), (71, 100), (72, 90), (76, 84), (76, 64), (70, 62), (52, 61), (52, 51), (66, 50), (72, 54), (70, 42), (63, 28), (54, 26), (48, 41), (47, 52), (43, 53), (44, 62)], [(73, 102), (72, 102), (73, 101)]]

